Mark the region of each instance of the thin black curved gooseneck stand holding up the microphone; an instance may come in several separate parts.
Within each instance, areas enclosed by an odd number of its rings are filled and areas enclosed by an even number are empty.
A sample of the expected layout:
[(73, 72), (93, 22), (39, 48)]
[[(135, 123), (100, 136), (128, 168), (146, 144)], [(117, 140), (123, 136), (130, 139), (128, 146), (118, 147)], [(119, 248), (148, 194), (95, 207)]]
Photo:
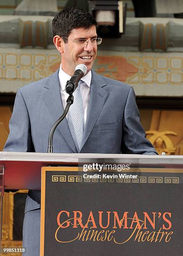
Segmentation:
[(48, 140), (48, 153), (53, 153), (53, 134), (55, 129), (57, 128), (57, 126), (59, 125), (59, 123), (61, 123), (61, 121), (65, 118), (65, 116), (67, 115), (70, 106), (73, 104), (74, 102), (74, 97), (72, 95), (72, 93), (69, 95), (68, 99), (67, 99), (67, 105), (66, 108), (64, 109), (64, 113), (63, 115), (61, 115), (61, 117), (53, 124), (50, 134), (49, 134), (49, 140)]

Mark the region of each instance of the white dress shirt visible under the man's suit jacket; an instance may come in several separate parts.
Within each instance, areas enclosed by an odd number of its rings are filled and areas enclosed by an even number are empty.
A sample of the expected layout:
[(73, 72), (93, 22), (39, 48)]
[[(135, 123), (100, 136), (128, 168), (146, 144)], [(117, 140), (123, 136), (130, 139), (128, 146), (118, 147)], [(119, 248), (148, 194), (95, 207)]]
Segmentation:
[[(66, 93), (65, 87), (66, 87), (66, 82), (70, 80), (71, 76), (66, 74), (64, 70), (61, 68), (59, 69), (58, 73), (59, 81), (60, 81), (60, 86), (61, 86), (61, 99), (63, 103), (63, 107), (65, 109), (66, 107), (66, 100), (69, 97), (69, 94)], [(86, 117), (88, 113), (88, 108), (89, 108), (89, 98), (90, 98), (90, 85), (91, 85), (91, 71), (88, 72), (84, 77), (81, 79), (85, 83), (81, 85), (80, 87), (80, 92), (83, 98), (83, 110), (84, 110), (84, 125), (86, 123)], [(67, 118), (67, 115), (66, 115)]]

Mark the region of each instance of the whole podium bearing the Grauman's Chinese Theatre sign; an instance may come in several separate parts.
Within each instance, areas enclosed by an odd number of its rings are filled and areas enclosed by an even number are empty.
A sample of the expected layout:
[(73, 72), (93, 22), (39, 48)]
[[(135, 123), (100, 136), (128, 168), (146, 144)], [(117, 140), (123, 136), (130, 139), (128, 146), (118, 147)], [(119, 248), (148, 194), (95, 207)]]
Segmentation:
[(41, 256), (183, 253), (183, 156), (0, 152), (0, 167), (1, 199), (41, 189)]

